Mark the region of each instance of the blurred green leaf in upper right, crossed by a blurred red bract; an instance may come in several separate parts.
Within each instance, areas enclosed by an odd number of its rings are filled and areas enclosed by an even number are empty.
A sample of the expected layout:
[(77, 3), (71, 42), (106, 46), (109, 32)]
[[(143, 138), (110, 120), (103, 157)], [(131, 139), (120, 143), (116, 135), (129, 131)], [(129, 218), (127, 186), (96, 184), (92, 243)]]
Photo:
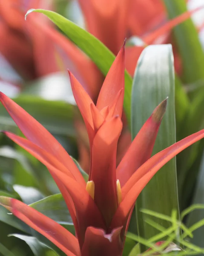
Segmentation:
[[(170, 19), (187, 12), (186, 0), (164, 0)], [(198, 38), (198, 32), (191, 19), (173, 29), (175, 41), (182, 60), (183, 79), (193, 83), (204, 79), (204, 52)]]

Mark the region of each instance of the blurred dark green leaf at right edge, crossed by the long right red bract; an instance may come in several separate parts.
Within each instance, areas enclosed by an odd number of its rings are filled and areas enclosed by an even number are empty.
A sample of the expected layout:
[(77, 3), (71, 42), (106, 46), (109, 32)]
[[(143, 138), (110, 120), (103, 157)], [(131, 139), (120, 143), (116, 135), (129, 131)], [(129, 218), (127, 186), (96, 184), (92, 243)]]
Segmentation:
[[(185, 116), (184, 122), (180, 128), (180, 136), (182, 136), (181, 139), (204, 128), (203, 116), (204, 94), (200, 92), (194, 96), (190, 103), (187, 115)], [(185, 129), (183, 129), (184, 127)], [(178, 155), (178, 192), (179, 198), (181, 198), (181, 209), (185, 209), (191, 200), (195, 182), (198, 177), (203, 148), (204, 141), (201, 140)]]

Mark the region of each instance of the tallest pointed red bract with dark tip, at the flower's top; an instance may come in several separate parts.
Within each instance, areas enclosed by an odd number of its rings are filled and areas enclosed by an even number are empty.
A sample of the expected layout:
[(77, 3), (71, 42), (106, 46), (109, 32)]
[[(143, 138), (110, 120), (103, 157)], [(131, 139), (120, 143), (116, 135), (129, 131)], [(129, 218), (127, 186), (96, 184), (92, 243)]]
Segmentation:
[[(126, 42), (126, 41), (125, 41)], [(101, 91), (98, 96), (96, 107), (101, 111), (106, 106), (112, 106), (115, 101), (115, 96), (121, 89), (124, 89), (124, 69), (125, 69), (125, 42), (120, 52), (115, 58), (107, 76), (101, 87)], [(123, 96), (117, 103), (117, 114), (121, 117), (123, 110), (123, 98), (124, 90), (122, 91)]]

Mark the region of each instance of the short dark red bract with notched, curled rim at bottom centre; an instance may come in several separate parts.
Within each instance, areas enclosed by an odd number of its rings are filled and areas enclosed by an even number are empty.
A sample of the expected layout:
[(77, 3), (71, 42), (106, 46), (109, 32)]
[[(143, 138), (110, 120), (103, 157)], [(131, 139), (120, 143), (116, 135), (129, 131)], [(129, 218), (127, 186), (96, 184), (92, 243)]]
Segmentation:
[[(123, 243), (120, 239), (121, 227), (106, 234), (104, 230), (88, 227), (82, 247), (82, 256), (121, 255)], [(94, 243), (93, 243), (94, 241)]]

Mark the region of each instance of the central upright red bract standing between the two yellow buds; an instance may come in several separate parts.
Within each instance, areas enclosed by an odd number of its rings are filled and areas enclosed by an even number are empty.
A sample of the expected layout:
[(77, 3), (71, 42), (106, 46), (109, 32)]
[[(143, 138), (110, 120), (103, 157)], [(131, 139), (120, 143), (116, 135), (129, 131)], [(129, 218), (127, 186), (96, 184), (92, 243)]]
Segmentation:
[(116, 149), (121, 130), (121, 119), (119, 116), (115, 116), (101, 125), (92, 145), (92, 166), (89, 180), (95, 184), (94, 201), (102, 212), (107, 227), (117, 209)]

